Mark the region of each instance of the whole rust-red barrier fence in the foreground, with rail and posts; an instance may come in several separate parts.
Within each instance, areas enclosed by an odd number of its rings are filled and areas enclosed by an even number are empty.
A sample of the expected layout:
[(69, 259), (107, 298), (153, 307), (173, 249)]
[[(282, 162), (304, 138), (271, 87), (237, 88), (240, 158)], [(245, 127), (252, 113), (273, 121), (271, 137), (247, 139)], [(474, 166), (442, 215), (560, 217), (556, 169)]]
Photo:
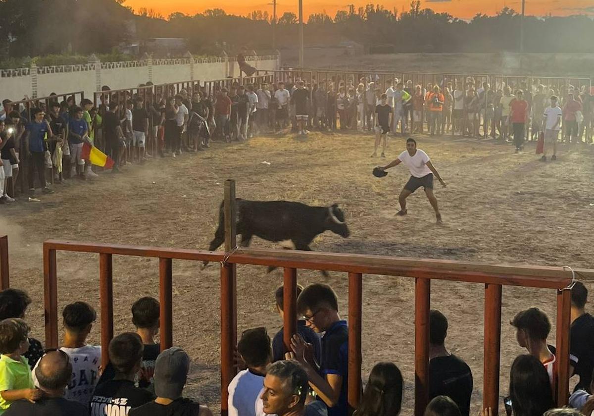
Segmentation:
[[(429, 395), (429, 309), (431, 280), (472, 282), (485, 285), (483, 406), (498, 412), (501, 294), (503, 285), (557, 290), (557, 366), (554, 374), (555, 402), (567, 403), (569, 389), (569, 324), (571, 272), (561, 267), (492, 266), (460, 261), (407, 259), (358, 254), (314, 253), (287, 250), (236, 250), (235, 182), (225, 182), (225, 253), (176, 248), (87, 244), (48, 240), (43, 244), (46, 346), (58, 346), (57, 251), (99, 254), (101, 340), (108, 345), (113, 336), (113, 255), (159, 259), (161, 348), (173, 344), (172, 260), (220, 261), (221, 313), (221, 408), (226, 415), (227, 386), (235, 376), (233, 351), (237, 341), (236, 264), (283, 267), (285, 348), (296, 330), (297, 269), (346, 272), (349, 279), (349, 374), (348, 402), (359, 404), (361, 394), (361, 336), (363, 274), (401, 276), (415, 279), (415, 415), (421, 416)], [(594, 279), (594, 270), (576, 270), (584, 279)], [(102, 357), (106, 363), (106, 354)]]

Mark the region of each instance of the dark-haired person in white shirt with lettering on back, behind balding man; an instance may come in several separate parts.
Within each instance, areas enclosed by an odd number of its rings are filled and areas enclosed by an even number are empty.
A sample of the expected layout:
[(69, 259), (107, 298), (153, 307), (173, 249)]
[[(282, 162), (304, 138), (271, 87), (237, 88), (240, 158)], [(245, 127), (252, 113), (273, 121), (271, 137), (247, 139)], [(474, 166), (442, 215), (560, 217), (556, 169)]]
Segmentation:
[[(86, 302), (68, 304), (62, 311), (64, 342), (60, 349), (68, 354), (72, 364), (72, 379), (66, 386), (64, 398), (80, 402), (87, 407), (99, 381), (101, 366), (101, 346), (87, 344), (87, 337), (96, 318), (95, 310)], [(39, 387), (35, 368), (33, 382)]]

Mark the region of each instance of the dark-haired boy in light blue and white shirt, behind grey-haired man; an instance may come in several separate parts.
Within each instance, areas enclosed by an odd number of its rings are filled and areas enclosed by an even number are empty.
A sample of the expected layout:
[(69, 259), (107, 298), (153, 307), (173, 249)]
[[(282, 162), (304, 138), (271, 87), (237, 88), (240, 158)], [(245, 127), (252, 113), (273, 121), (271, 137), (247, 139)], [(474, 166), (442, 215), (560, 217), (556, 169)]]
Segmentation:
[(272, 348), (266, 328), (245, 331), (237, 349), (248, 368), (239, 371), (227, 387), (229, 416), (256, 416), (266, 366), (272, 361)]

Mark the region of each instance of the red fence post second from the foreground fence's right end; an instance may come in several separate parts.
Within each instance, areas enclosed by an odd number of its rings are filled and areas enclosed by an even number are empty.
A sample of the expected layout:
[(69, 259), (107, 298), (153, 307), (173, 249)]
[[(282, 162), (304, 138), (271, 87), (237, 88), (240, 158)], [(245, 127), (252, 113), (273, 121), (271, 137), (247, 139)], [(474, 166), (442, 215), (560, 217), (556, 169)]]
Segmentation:
[(485, 285), (485, 339), (483, 408), (499, 412), (499, 365), (501, 350), (501, 285)]

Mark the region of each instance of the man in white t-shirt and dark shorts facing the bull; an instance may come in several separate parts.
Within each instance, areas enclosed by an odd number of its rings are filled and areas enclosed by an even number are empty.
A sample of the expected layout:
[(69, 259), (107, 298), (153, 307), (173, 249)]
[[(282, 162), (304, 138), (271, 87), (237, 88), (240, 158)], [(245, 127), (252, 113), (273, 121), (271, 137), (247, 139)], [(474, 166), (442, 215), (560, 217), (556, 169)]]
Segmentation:
[(386, 166), (378, 166), (378, 168), (385, 171), (386, 169), (390, 169), (393, 166), (400, 165), (400, 163), (404, 163), (407, 168), (409, 168), (410, 179), (408, 182), (406, 182), (405, 187), (403, 188), (402, 192), (400, 192), (400, 196), (398, 197), (400, 202), (400, 211), (397, 213), (397, 215), (406, 215), (406, 198), (418, 188), (423, 187), (429, 203), (431, 203), (431, 206), (435, 210), (435, 218), (437, 218), (437, 223), (441, 224), (441, 214), (437, 207), (437, 198), (435, 198), (435, 195), (433, 194), (434, 175), (437, 180), (440, 181), (440, 184), (443, 187), (445, 187), (445, 182), (437, 172), (437, 169), (435, 169), (435, 167), (432, 165), (429, 156), (427, 156), (427, 154), (421, 149), (416, 148), (416, 141), (414, 138), (409, 137), (406, 140), (406, 150), (400, 153), (398, 159), (393, 160)]

